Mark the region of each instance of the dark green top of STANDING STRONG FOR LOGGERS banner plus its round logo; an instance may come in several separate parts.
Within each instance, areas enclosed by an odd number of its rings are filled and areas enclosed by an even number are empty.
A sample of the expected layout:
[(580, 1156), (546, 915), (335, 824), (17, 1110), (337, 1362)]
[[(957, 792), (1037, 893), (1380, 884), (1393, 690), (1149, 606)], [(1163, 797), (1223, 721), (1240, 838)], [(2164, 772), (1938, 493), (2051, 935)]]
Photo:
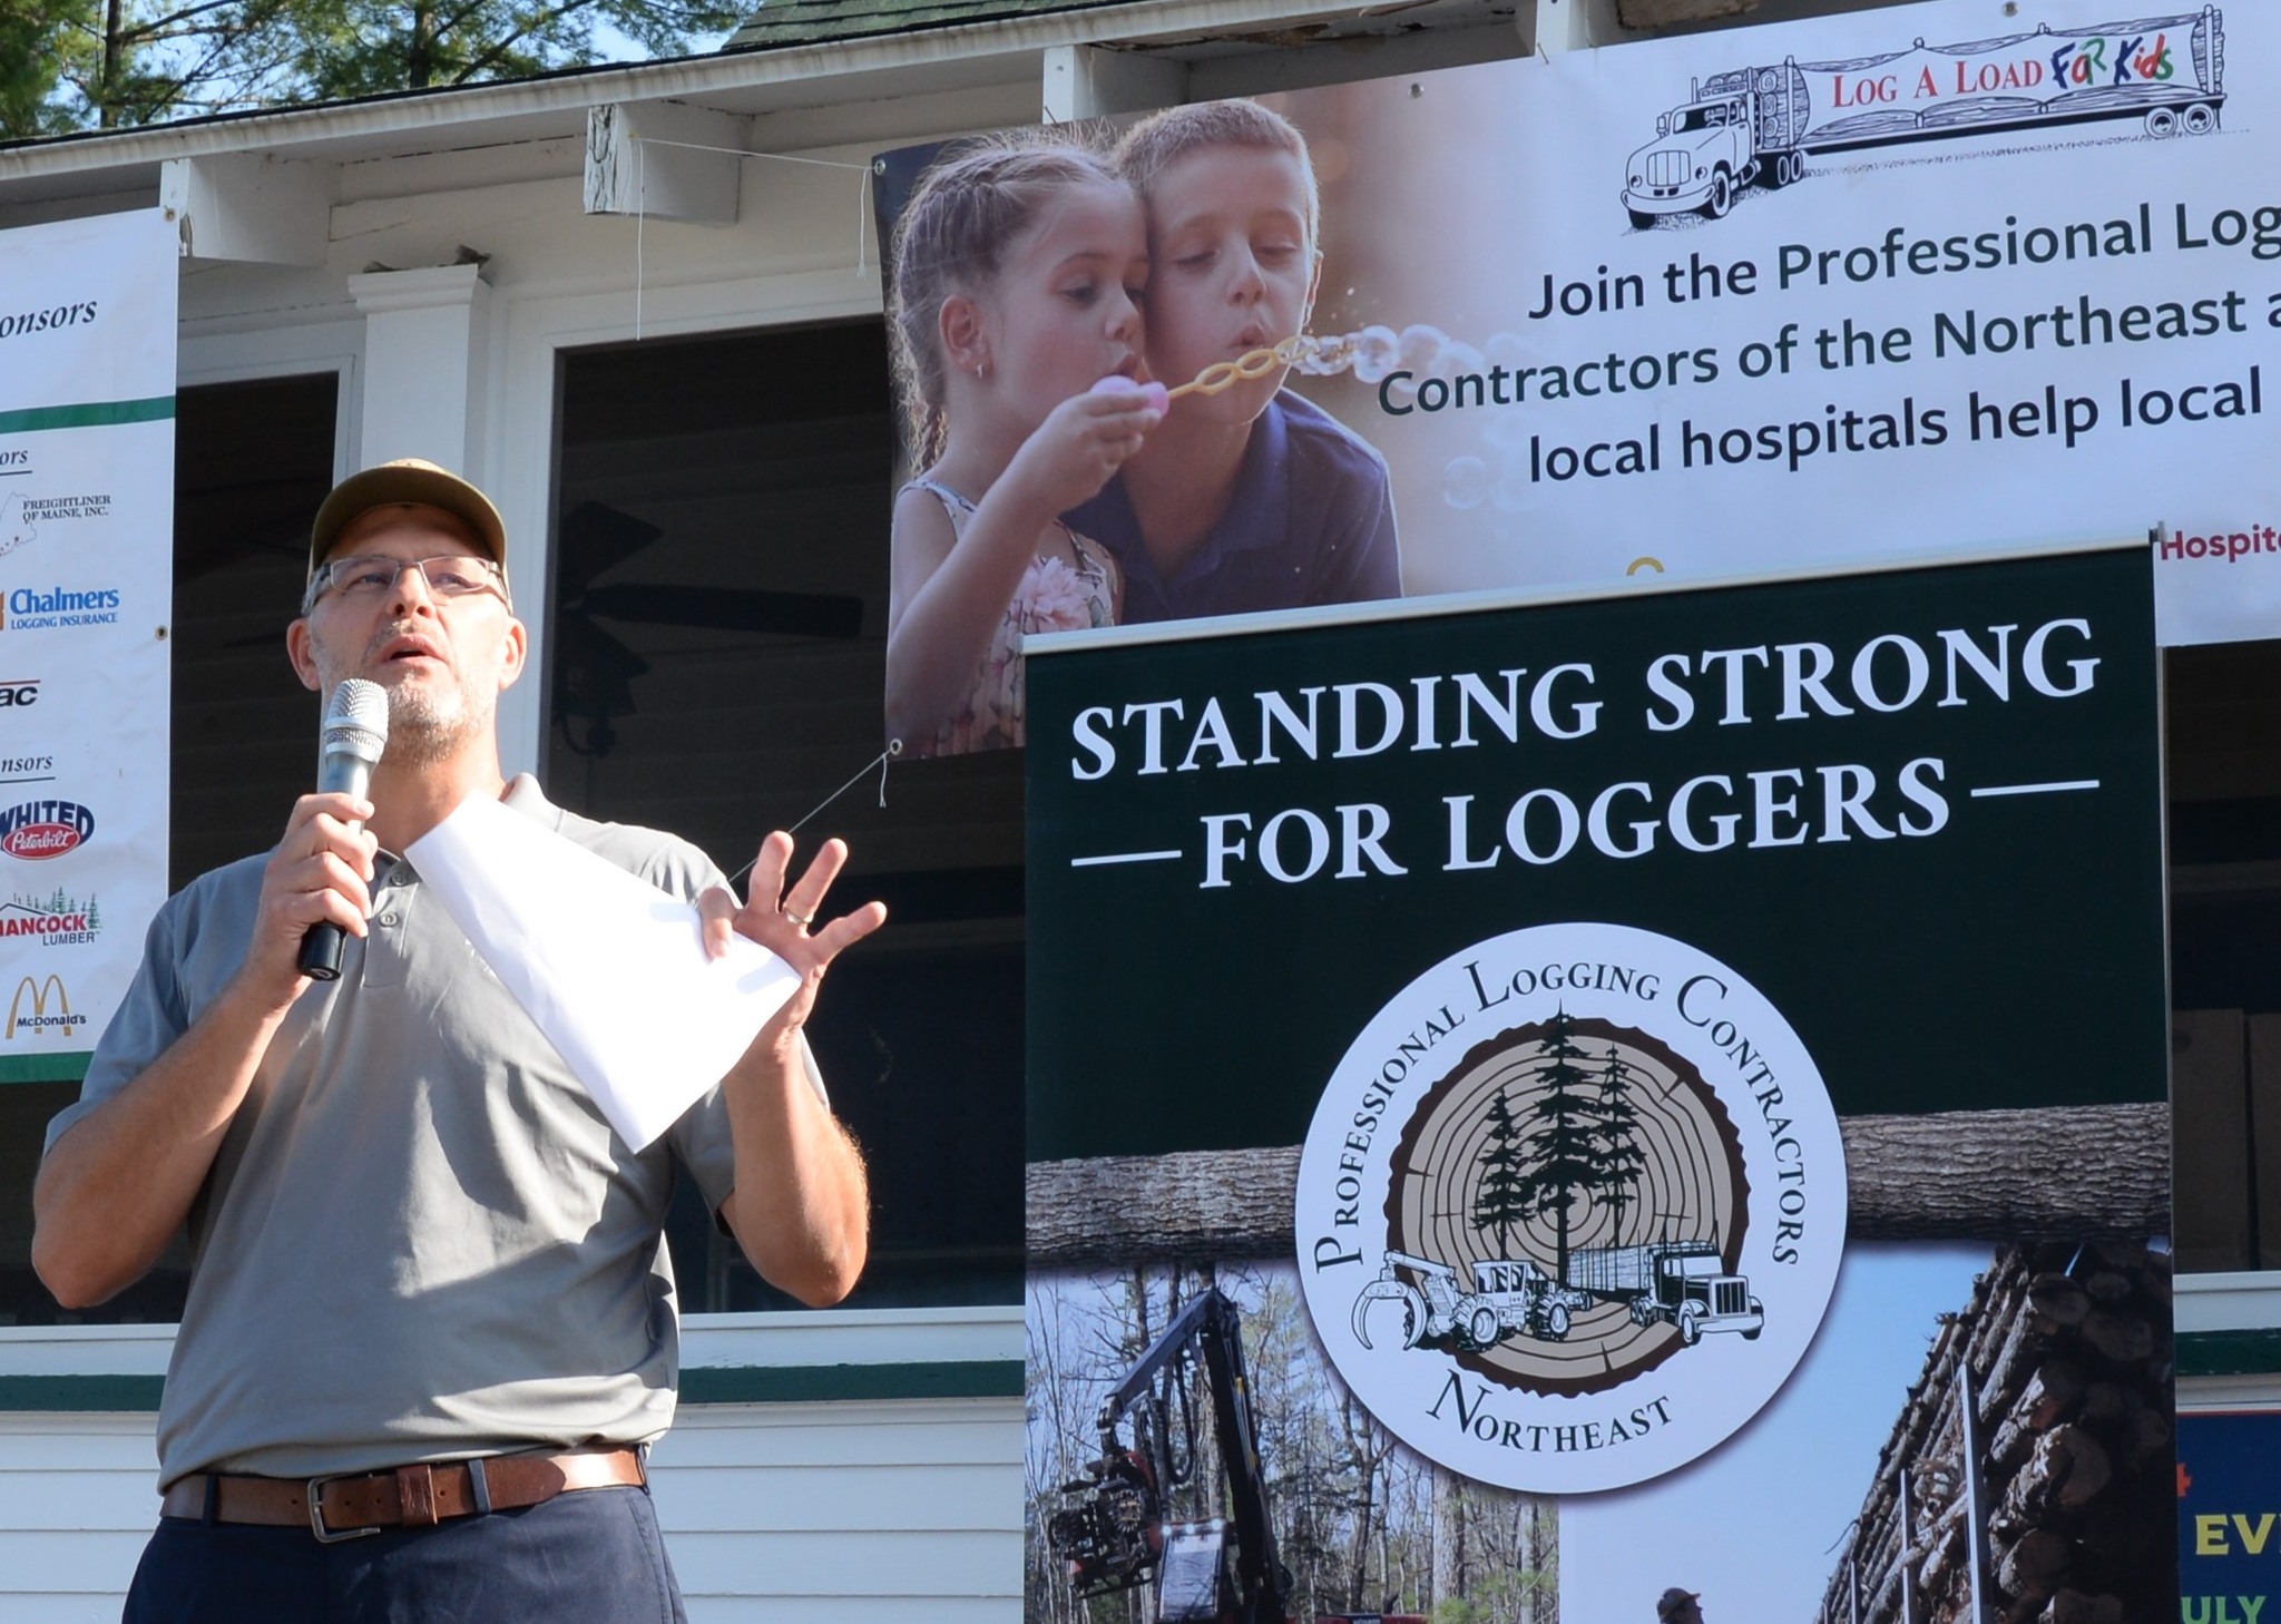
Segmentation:
[(2144, 543), (1031, 652), (1029, 1161), (1302, 1145), (1323, 1353), (1469, 1478), (1745, 1426), (1838, 1115), (2162, 1099)]

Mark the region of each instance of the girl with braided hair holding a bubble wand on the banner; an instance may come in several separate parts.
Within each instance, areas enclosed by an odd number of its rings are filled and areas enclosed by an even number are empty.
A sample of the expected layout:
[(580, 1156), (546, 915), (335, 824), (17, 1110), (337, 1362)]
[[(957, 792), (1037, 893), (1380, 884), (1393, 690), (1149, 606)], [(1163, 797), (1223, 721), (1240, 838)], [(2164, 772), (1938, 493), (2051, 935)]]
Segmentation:
[(1166, 408), (1138, 383), (1147, 224), (1074, 146), (937, 162), (896, 228), (894, 363), (915, 461), (894, 502), (887, 732), (1022, 744), (1022, 634), (1115, 625), (1115, 559), (1061, 522)]

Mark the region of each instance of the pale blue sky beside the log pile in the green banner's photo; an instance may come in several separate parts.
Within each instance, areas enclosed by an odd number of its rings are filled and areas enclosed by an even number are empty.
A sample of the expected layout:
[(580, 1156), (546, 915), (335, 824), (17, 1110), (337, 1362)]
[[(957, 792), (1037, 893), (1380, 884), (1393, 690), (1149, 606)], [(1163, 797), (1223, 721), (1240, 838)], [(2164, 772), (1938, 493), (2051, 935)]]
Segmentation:
[(1667, 1478), (1560, 1501), (1562, 1624), (1654, 1624), (1667, 1585), (1702, 1592), (1704, 1624), (1813, 1624), (1937, 1321), (1991, 1261), (1848, 1245), (1820, 1337), (1756, 1421)]

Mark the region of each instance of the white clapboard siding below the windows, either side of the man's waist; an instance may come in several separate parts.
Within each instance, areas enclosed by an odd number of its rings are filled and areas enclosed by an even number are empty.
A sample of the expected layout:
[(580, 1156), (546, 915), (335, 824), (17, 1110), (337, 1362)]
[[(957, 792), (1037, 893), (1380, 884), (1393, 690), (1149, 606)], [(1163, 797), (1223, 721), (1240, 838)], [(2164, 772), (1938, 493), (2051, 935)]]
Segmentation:
[[(691, 1318), (689, 1369), (999, 1364), (1017, 1307)], [(0, 1330), (0, 1378), (151, 1378), (171, 1327)], [(0, 1410), (0, 1619), (119, 1603), (157, 1519), (155, 1416)], [(693, 1624), (1013, 1624), (1022, 1400), (682, 1405), (652, 1451)]]

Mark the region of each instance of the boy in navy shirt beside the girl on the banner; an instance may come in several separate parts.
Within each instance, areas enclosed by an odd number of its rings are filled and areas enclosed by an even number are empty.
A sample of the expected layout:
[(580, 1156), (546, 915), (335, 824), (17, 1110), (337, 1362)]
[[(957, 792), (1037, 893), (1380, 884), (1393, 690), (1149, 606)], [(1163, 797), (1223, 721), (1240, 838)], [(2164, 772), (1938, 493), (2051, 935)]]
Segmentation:
[[(1147, 358), (1166, 383), (1307, 328), (1323, 255), (1307, 141), (1257, 103), (1136, 123), (1118, 171), (1147, 203)], [(1118, 554), (1122, 620), (1401, 598), (1387, 463), (1284, 370), (1191, 395), (1070, 525)]]

